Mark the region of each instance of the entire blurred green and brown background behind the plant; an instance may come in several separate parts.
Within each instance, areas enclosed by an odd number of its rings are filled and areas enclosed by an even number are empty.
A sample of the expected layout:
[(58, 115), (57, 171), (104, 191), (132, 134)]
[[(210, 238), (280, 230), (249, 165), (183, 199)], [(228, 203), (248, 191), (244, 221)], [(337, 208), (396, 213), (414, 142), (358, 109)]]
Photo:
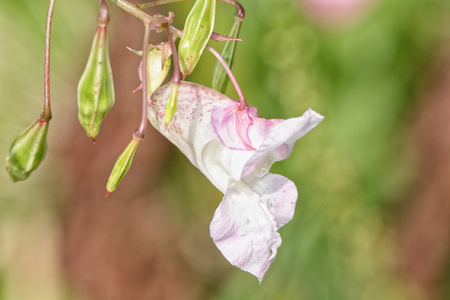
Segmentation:
[[(125, 47), (141, 48), (143, 28), (110, 5), (117, 98), (93, 145), (76, 88), (98, 1), (56, 1), (47, 157), (26, 182), (0, 172), (0, 300), (450, 299), (450, 2), (241, 3), (235, 74), (249, 104), (266, 118), (325, 116), (272, 169), (300, 197), (262, 284), (209, 237), (220, 192), (153, 128), (104, 198), (139, 124), (140, 59)], [(0, 0), (3, 157), (42, 110), (47, 5)], [(191, 5), (153, 12), (182, 28)], [(218, 3), (215, 31), (233, 14)], [(205, 52), (188, 80), (210, 86), (213, 63)]]

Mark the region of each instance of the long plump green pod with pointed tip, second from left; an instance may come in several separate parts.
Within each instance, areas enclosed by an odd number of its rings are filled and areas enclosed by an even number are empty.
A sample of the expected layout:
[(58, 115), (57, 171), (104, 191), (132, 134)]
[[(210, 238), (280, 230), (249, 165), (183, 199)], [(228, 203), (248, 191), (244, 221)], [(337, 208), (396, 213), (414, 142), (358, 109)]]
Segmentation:
[(86, 69), (78, 84), (78, 120), (91, 139), (95, 140), (114, 101), (106, 25), (100, 24), (95, 33)]

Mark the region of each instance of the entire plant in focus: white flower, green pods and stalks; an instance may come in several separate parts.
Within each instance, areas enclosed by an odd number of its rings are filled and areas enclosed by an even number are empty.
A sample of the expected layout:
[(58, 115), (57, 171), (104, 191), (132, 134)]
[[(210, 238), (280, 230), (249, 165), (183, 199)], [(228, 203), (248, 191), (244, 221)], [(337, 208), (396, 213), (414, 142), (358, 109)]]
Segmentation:
[[(181, 0), (183, 1), (183, 0)], [(235, 7), (229, 36), (213, 32), (216, 2)], [(144, 25), (139, 78), (142, 113), (138, 128), (116, 160), (106, 185), (112, 193), (131, 167), (134, 154), (144, 138), (147, 118), (223, 194), (210, 225), (211, 237), (231, 264), (255, 275), (260, 281), (281, 245), (278, 229), (295, 211), (297, 188), (289, 179), (269, 173), (272, 164), (290, 156), (295, 142), (319, 124), (323, 117), (311, 109), (288, 120), (258, 117), (248, 106), (232, 73), (234, 55), (244, 8), (235, 0), (196, 0), (184, 29), (172, 25), (175, 15), (149, 15), (143, 11), (166, 0), (134, 4), (111, 0)], [(179, 2), (179, 1), (174, 1)], [(43, 161), (47, 132), (52, 118), (50, 107), (50, 29), (55, 0), (50, 0), (45, 36), (44, 110), (41, 117), (13, 141), (6, 165), (13, 181), (25, 180)], [(97, 31), (88, 63), (78, 85), (78, 119), (95, 141), (106, 114), (115, 103), (114, 82), (108, 53), (109, 10), (100, 0)], [(165, 32), (167, 42), (150, 44), (150, 33)], [(178, 48), (176, 40), (180, 38)], [(224, 41), (222, 54), (208, 43)], [(177, 50), (178, 49), (178, 50)], [(216, 58), (212, 89), (184, 81), (193, 72), (204, 50)], [(160, 87), (173, 66), (170, 83)], [(239, 102), (222, 93), (230, 80)]]

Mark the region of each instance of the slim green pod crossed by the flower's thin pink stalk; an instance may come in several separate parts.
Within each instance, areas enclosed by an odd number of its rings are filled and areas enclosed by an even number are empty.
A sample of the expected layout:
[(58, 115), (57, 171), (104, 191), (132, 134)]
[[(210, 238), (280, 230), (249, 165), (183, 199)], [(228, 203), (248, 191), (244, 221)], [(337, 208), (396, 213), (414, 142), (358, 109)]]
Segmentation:
[[(231, 32), (229, 35), (230, 37), (237, 38), (239, 36), (241, 24), (242, 19), (236, 17), (233, 27), (231, 28)], [(225, 42), (225, 45), (222, 48), (222, 53), (220, 54), (220, 56), (222, 56), (223, 60), (227, 63), (231, 70), (234, 66), (234, 54), (236, 53), (236, 46), (237, 41), (228, 40)], [(212, 88), (224, 94), (227, 89), (229, 79), (230, 78), (228, 77), (227, 71), (223, 68), (222, 64), (219, 61), (216, 61), (212, 76)]]

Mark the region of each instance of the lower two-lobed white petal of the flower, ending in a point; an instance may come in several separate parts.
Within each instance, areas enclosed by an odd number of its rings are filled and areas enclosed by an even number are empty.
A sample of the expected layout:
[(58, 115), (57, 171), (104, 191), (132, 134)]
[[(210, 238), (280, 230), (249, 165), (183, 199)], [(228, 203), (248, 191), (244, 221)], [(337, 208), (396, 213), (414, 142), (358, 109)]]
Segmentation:
[(236, 182), (214, 214), (211, 237), (232, 265), (261, 281), (281, 245), (277, 230), (292, 218), (296, 200), (294, 183), (281, 175)]

